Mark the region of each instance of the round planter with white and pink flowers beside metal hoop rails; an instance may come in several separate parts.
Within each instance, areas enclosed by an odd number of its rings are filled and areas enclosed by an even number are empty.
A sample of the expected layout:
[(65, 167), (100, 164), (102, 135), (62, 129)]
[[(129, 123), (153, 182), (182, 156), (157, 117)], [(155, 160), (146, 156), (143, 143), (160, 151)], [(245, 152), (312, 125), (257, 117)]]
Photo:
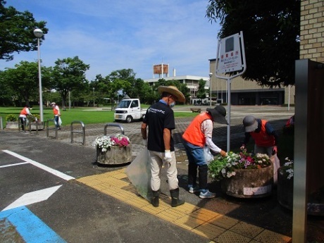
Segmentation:
[(96, 162), (123, 164), (132, 161), (132, 146), (125, 135), (97, 137), (92, 144), (96, 148)]

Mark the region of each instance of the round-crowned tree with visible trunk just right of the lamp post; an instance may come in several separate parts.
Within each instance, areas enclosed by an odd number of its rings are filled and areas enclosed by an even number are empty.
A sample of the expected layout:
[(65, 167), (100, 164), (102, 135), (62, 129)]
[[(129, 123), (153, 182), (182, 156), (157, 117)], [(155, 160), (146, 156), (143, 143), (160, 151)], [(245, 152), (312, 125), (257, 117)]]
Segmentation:
[(77, 56), (58, 59), (55, 62), (53, 70), (54, 85), (52, 88), (61, 94), (62, 106), (66, 106), (69, 92), (73, 90), (80, 92), (87, 87), (85, 72), (89, 68), (90, 66), (83, 63)]

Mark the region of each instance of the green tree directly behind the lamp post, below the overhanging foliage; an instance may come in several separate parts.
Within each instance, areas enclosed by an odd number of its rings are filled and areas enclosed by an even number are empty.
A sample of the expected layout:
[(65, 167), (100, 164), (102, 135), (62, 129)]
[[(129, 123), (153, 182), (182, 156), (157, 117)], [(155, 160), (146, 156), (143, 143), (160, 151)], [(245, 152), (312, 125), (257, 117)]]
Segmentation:
[[(42, 84), (44, 88), (49, 87), (50, 68), (42, 67)], [(39, 99), (39, 76), (38, 63), (20, 61), (15, 64), (15, 68), (7, 68), (2, 72), (2, 78), (11, 88), (13, 94), (18, 96), (20, 106), (22, 99), (26, 105), (30, 104), (30, 99)]]

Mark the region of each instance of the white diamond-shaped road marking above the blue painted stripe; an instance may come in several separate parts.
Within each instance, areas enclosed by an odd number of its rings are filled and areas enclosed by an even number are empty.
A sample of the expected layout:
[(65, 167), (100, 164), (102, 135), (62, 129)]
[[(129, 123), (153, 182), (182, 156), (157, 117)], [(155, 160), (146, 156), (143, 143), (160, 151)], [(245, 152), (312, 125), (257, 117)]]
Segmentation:
[(18, 208), (19, 206), (26, 206), (30, 204), (35, 204), (39, 201), (45, 201), (51, 197), (54, 192), (58, 190), (62, 185), (56, 186), (56, 187), (49, 187), (46, 189), (40, 189), (35, 192), (28, 192), (26, 194), (23, 194), (20, 198), (15, 200), (12, 204), (4, 208), (2, 211), (6, 211), (12, 208)]

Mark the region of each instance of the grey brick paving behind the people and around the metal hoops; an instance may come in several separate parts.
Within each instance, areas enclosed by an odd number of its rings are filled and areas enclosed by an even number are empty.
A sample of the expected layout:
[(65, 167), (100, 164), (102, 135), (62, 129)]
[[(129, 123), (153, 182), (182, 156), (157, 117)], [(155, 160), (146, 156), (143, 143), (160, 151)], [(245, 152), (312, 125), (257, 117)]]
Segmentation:
[[(200, 106), (202, 111), (206, 110), (206, 106)], [(183, 111), (184, 108), (181, 106), (179, 108), (174, 108), (175, 111)], [(186, 112), (189, 108), (185, 108)], [(231, 108), (231, 126), (230, 126), (230, 149), (239, 147), (244, 139), (244, 131), (242, 120), (244, 116), (253, 115), (256, 118), (264, 118), (268, 120), (275, 130), (282, 130), (287, 119), (294, 114), (294, 108), (287, 111), (287, 108), (280, 106), (232, 106)], [(64, 113), (63, 113), (64, 116)], [(192, 121), (193, 118), (175, 118), (176, 128), (173, 130), (173, 139), (175, 142), (176, 155), (185, 156), (185, 150), (182, 146), (182, 134)], [(104, 135), (104, 127), (107, 123), (100, 124), (85, 124), (85, 146), (92, 147), (92, 142), (96, 137)], [(142, 136), (140, 133), (141, 122), (133, 123), (114, 123), (115, 125), (120, 125), (123, 127), (125, 135), (130, 137), (132, 142), (132, 155), (135, 157), (140, 149), (143, 148)], [(73, 124), (73, 130), (76, 132), (81, 132), (82, 127), (79, 123)], [(116, 135), (120, 133), (120, 128), (115, 126), (106, 127), (107, 135)], [(32, 132), (32, 135), (35, 132)], [(46, 131), (39, 131), (39, 137), (46, 138)], [(213, 130), (213, 142), (215, 144), (226, 150), (227, 148), (227, 137), (228, 137), (228, 126), (220, 125), (218, 123), (214, 124)], [(55, 131), (49, 130), (49, 137), (47, 139), (55, 139)], [(65, 125), (62, 130), (58, 130), (58, 141), (60, 142), (71, 142), (71, 132), (70, 125)], [(82, 135), (79, 133), (73, 134), (73, 143), (82, 144)]]

